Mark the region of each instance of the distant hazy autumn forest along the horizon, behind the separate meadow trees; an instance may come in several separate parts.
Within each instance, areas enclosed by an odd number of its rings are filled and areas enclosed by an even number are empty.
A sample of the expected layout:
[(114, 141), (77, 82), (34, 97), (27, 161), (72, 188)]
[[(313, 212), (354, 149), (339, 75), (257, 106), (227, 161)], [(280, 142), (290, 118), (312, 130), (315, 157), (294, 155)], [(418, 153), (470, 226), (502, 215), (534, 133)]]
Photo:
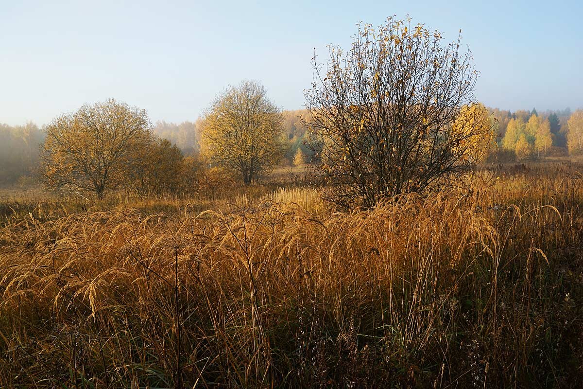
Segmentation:
[[(571, 112), (567, 108), (538, 113), (535, 108), (532, 111), (487, 108), (487, 111), (490, 120), (495, 123), (498, 151), (500, 154), (506, 153), (506, 158), (508, 152), (510, 159), (519, 160), (562, 155), (565, 152), (578, 155), (583, 152), (581, 110)], [(284, 164), (301, 166), (314, 160), (314, 150), (307, 144), (308, 126), (302, 122), (307, 114), (305, 109), (282, 111)], [(152, 136), (166, 139), (171, 145), (177, 146), (184, 157), (192, 157), (200, 165), (202, 123), (202, 117), (181, 123), (157, 121), (152, 126)], [(39, 128), (31, 122), (17, 126), (0, 124), (0, 185), (15, 184), (18, 181), (30, 183), (31, 177), (37, 173), (40, 146), (44, 142), (47, 128)]]

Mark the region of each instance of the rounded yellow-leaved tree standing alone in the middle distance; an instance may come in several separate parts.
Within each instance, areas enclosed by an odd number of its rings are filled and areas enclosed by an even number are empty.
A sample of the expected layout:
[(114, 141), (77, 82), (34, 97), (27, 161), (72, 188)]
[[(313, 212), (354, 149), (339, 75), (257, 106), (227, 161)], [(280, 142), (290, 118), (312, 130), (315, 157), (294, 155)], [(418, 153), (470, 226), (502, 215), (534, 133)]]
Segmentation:
[(266, 94), (257, 82), (230, 86), (202, 122), (203, 155), (212, 164), (238, 171), (245, 185), (279, 162), (283, 153), (283, 117)]

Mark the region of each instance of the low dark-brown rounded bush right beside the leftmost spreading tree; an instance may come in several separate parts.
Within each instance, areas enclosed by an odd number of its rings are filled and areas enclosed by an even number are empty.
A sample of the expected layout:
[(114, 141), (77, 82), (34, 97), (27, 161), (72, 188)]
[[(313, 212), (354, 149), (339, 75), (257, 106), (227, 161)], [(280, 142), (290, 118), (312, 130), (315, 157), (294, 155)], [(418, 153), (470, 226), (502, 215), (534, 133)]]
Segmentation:
[(149, 196), (181, 190), (184, 166), (178, 146), (151, 135), (135, 152), (128, 166), (127, 181), (136, 193)]

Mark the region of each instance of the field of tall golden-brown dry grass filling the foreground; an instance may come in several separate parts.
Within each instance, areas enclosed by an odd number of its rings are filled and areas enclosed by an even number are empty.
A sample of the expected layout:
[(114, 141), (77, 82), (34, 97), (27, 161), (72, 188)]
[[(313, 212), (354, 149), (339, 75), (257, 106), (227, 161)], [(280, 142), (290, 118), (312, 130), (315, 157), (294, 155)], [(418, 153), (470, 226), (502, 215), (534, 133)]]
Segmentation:
[(0, 387), (583, 386), (583, 164), (340, 212), (5, 192)]

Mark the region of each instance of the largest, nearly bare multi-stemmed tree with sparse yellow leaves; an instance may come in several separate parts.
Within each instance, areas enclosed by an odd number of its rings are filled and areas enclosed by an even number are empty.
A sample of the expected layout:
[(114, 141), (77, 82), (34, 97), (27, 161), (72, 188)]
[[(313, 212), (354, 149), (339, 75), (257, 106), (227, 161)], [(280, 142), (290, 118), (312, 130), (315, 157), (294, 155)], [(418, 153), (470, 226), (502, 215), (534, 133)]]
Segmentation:
[(370, 207), (440, 187), (476, 165), (481, 129), (460, 112), (475, 103), (477, 73), (460, 38), (442, 44), (437, 31), (389, 18), (378, 29), (359, 26), (350, 50), (331, 45), (329, 57), (325, 72), (314, 58), (305, 92), (326, 200)]

